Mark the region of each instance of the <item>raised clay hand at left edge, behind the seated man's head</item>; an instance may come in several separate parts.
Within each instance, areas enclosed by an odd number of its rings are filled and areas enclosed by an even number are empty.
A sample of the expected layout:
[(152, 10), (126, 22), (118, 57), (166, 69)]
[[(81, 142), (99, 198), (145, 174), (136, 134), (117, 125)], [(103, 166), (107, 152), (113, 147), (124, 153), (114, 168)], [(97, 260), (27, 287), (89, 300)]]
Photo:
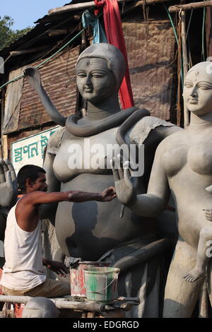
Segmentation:
[(13, 165), (8, 159), (0, 159), (0, 205), (13, 205), (16, 203), (17, 195), (18, 183)]

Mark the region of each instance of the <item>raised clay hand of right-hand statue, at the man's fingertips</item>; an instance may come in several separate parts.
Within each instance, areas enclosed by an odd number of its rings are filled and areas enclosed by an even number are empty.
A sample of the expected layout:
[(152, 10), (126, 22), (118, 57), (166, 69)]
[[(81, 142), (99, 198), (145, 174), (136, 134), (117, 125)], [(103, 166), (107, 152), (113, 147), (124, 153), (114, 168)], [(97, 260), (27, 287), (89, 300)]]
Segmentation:
[(129, 162), (124, 162), (122, 158), (113, 158), (110, 161), (114, 176), (114, 186), (117, 198), (124, 205), (131, 205), (136, 201), (136, 178), (131, 178)]

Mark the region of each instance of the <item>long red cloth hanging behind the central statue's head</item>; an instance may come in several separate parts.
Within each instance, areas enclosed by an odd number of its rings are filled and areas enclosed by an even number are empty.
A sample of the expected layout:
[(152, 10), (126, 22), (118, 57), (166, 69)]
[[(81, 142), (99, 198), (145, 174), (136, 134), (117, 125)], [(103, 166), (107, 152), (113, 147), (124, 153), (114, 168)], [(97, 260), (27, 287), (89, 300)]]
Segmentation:
[[(105, 23), (105, 32), (109, 44), (116, 46), (126, 61), (126, 73), (119, 90), (119, 97), (122, 103), (122, 109), (134, 106), (134, 97), (131, 90), (129, 77), (129, 66), (124, 42), (124, 33), (122, 30), (122, 20), (119, 12), (117, 0), (94, 0), (95, 6), (103, 6), (103, 16)], [(97, 14), (97, 12), (95, 12)]]

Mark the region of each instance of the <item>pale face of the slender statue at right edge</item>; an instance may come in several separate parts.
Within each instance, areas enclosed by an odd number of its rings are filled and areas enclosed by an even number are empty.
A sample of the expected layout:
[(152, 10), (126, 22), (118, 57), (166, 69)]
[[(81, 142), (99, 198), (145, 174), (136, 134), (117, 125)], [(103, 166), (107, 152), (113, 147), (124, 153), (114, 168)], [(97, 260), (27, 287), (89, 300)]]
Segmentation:
[(212, 111), (212, 74), (206, 68), (194, 69), (184, 80), (184, 105), (196, 115)]

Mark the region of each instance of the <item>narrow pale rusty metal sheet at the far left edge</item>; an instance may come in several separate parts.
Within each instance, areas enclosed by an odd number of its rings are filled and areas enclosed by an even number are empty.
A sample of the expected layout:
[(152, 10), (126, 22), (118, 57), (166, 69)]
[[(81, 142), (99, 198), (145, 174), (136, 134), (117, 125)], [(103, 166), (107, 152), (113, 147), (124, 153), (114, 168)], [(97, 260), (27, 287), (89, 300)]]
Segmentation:
[[(8, 80), (12, 80), (23, 73), (23, 68), (11, 71)], [(20, 102), (23, 93), (23, 78), (10, 83), (6, 89), (6, 98), (4, 105), (4, 124), (3, 134), (13, 132), (18, 129), (18, 119), (20, 114)]]

